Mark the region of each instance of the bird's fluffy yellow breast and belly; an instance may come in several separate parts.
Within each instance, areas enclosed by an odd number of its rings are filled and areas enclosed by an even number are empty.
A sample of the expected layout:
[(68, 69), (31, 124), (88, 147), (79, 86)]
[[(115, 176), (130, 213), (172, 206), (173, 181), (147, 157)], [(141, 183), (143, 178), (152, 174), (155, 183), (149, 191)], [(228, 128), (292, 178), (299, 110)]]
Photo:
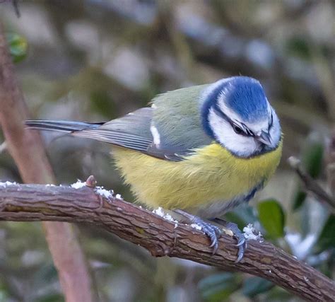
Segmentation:
[(277, 168), (281, 149), (282, 144), (274, 151), (245, 159), (213, 143), (179, 162), (114, 146), (112, 155), (139, 202), (148, 207), (197, 209), (228, 202), (266, 182)]

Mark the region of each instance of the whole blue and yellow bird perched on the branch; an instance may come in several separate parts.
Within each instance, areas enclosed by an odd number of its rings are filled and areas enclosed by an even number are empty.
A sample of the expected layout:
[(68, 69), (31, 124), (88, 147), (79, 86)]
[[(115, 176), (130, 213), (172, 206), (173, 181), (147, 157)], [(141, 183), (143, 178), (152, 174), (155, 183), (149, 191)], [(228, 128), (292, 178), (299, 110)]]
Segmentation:
[(66, 132), (112, 145), (112, 157), (136, 200), (173, 210), (201, 226), (218, 248), (220, 217), (247, 204), (275, 173), (283, 134), (257, 79), (232, 76), (155, 96), (148, 107), (109, 122), (28, 120), (28, 128)]

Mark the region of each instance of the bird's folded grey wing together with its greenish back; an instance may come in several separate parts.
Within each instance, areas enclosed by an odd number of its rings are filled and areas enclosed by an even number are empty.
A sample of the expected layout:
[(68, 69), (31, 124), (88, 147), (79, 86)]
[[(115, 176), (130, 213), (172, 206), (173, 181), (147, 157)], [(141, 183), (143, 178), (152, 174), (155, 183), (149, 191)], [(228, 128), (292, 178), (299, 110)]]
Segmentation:
[(194, 149), (211, 143), (201, 126), (201, 90), (182, 88), (158, 95), (141, 108), (105, 124), (72, 134), (105, 141), (167, 161), (182, 161)]

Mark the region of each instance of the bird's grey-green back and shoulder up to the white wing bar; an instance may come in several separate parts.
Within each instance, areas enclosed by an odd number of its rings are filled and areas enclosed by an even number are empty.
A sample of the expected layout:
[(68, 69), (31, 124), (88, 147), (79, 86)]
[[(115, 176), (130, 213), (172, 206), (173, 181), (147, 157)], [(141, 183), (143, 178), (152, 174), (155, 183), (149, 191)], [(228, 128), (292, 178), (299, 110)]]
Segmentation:
[(211, 144), (212, 139), (201, 124), (201, 92), (206, 87), (201, 85), (169, 91), (153, 100), (151, 132), (156, 135), (153, 135), (149, 154), (181, 161), (194, 149)]

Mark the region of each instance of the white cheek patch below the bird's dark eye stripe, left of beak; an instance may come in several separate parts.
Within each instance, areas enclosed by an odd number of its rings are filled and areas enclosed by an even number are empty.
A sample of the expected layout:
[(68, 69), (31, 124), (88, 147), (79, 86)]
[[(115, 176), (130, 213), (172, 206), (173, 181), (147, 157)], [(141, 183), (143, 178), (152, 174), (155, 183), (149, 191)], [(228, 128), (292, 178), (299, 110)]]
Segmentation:
[(208, 122), (216, 139), (237, 156), (252, 156), (259, 150), (259, 143), (254, 138), (237, 134), (229, 122), (216, 115), (213, 108), (209, 110)]

